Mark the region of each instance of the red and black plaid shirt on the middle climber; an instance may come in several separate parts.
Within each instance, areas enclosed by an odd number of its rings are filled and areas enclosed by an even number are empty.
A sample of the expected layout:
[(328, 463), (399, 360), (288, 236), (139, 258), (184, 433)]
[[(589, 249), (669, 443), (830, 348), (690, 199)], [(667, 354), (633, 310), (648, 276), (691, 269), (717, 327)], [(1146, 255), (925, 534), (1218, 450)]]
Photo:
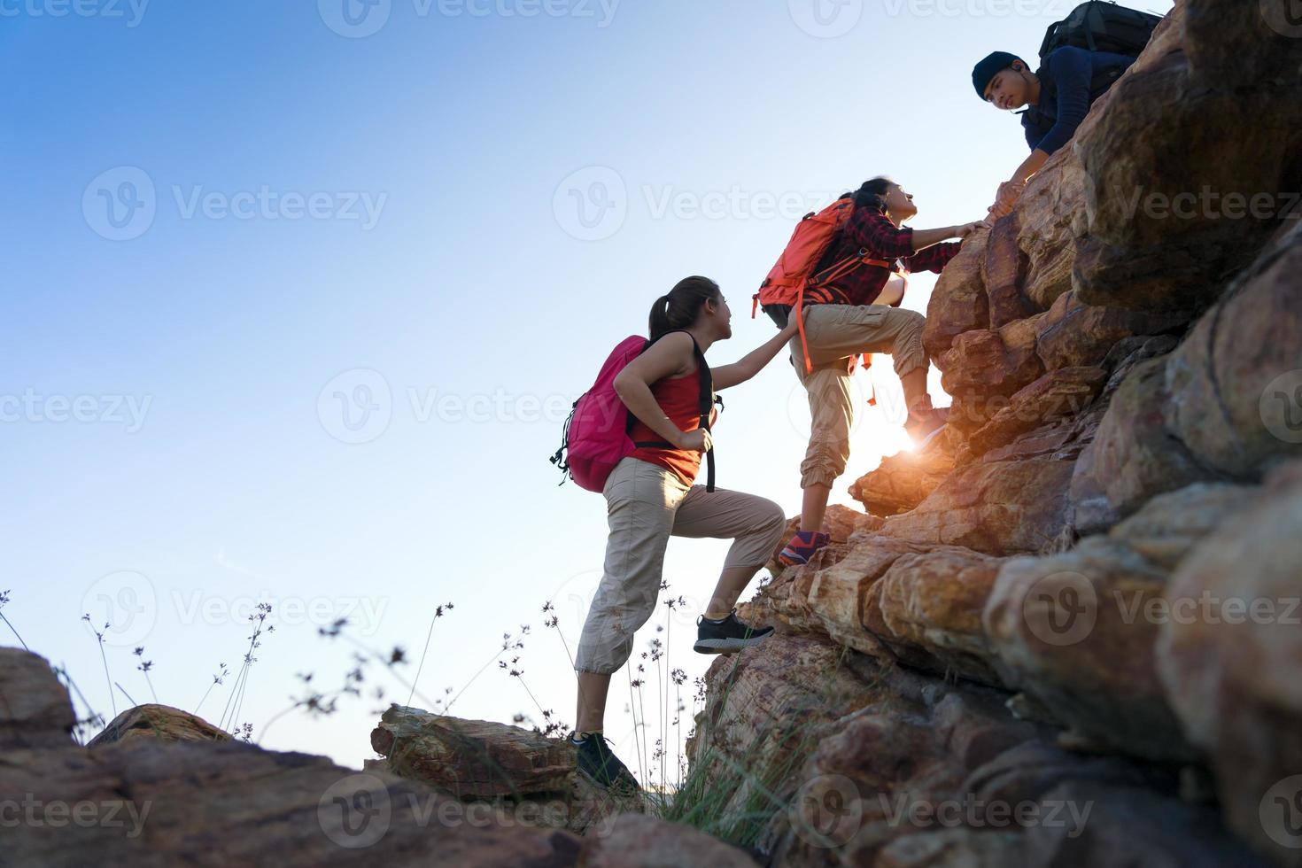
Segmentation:
[[(884, 213), (871, 208), (855, 208), (845, 223), (841, 236), (823, 254), (819, 273), (848, 256), (858, 256), (859, 250), (867, 251), (874, 259), (896, 263), (896, 271), (904, 273), (915, 271), (940, 271), (954, 258), (962, 242), (932, 245), (922, 252), (913, 249), (913, 229), (896, 226)], [(892, 272), (880, 265), (859, 265), (845, 277), (828, 284), (832, 305), (871, 305), (881, 294)], [(809, 299), (816, 303), (815, 299)], [(901, 299), (902, 301), (902, 299)], [(900, 302), (892, 305), (898, 307)]]

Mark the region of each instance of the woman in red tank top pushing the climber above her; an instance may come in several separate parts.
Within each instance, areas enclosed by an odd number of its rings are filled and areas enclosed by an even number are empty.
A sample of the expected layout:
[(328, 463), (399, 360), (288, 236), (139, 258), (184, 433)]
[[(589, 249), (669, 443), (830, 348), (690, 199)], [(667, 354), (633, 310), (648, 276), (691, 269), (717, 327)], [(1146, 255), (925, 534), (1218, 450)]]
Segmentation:
[[(700, 427), (698, 366), (716, 341), (732, 337), (732, 311), (719, 285), (707, 277), (680, 281), (652, 306), (650, 325), (647, 349), (615, 379), (638, 448), (615, 467), (603, 491), (611, 528), (605, 569), (574, 657), (578, 714), (572, 740), (579, 770), (603, 786), (638, 786), (611, 752), (602, 726), (611, 673), (629, 660), (633, 635), (655, 612), (669, 537), (734, 540), (698, 619), (694, 648), (712, 655), (746, 648), (772, 632), (742, 623), (733, 606), (786, 527), (785, 513), (769, 500), (693, 484), (702, 454), (712, 446), (710, 431)], [(713, 390), (759, 373), (794, 333), (793, 318), (786, 331), (740, 362), (711, 370)], [(713, 394), (704, 397), (712, 401)]]

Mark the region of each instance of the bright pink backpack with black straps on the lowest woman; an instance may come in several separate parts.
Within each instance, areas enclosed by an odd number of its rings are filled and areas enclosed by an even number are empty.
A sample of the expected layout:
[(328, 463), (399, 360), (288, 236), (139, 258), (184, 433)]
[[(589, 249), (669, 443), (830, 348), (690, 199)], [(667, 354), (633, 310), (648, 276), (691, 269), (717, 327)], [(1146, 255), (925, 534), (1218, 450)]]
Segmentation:
[[(624, 401), (615, 392), (615, 377), (628, 367), (629, 362), (642, 355), (651, 346), (651, 341), (638, 334), (620, 341), (602, 372), (596, 375), (596, 383), (585, 392), (565, 420), (565, 431), (561, 439), (561, 448), (556, 450), (551, 461), (560, 467), (561, 484), (565, 479), (573, 479), (579, 488), (591, 492), (600, 492), (605, 488), (605, 480), (611, 471), (621, 461), (628, 458), (638, 446), (663, 446), (669, 449), (667, 442), (635, 444), (629, 437), (629, 428), (633, 418)], [(713, 380), (710, 376), (710, 366), (706, 357), (697, 347), (697, 370), (700, 372), (700, 427), (710, 429), (710, 413), (713, 406)], [(715, 489), (715, 455), (713, 450), (707, 453), (710, 491)]]

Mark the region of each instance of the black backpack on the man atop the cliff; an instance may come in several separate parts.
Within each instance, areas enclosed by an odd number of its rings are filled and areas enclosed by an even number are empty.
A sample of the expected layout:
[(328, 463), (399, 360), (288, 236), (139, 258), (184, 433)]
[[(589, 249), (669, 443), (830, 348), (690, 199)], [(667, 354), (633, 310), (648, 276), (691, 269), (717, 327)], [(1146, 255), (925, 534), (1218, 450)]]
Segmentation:
[[(1082, 3), (1066, 18), (1049, 25), (1044, 34), (1044, 42), (1040, 43), (1040, 69), (1036, 70), (1036, 75), (1043, 72), (1044, 61), (1051, 53), (1068, 46), (1138, 57), (1160, 21), (1161, 16), (1118, 7), (1111, 0), (1107, 3), (1104, 0)], [(1122, 72), (1125, 68), (1117, 65), (1094, 70), (1094, 78), (1090, 79), (1090, 98), (1095, 99), (1112, 87)], [(1040, 75), (1040, 82), (1048, 90), (1049, 96), (1057, 99), (1053, 83), (1043, 75)], [(1034, 105), (1026, 109), (1025, 115), (1023, 125), (1042, 137), (1047, 135), (1057, 121)]]

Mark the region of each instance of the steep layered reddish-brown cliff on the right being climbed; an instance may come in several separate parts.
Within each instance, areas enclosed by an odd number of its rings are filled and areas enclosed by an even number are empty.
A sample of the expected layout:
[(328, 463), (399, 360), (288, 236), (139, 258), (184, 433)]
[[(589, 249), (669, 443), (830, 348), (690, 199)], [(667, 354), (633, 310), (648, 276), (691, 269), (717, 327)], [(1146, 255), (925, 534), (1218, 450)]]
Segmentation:
[(745, 606), (691, 757), (779, 864), (1302, 865), (1285, 5), (1177, 4), (940, 277), (945, 436)]

